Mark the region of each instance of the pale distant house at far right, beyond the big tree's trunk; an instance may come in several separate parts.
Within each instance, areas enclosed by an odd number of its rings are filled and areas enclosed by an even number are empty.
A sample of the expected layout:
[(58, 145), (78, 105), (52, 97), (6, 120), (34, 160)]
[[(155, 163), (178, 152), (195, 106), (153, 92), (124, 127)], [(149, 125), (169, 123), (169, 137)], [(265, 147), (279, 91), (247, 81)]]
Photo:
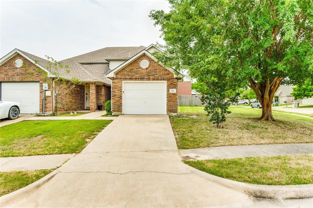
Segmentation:
[(306, 98), (306, 99), (295, 100), (295, 98), (291, 95), (292, 88), (294, 87), (295, 86), (281, 85), (274, 94), (273, 102), (278, 102), (279, 104), (285, 104), (285, 101), (286, 101), (287, 104), (291, 104), (292, 102), (296, 101), (303, 105), (313, 104), (312, 97)]

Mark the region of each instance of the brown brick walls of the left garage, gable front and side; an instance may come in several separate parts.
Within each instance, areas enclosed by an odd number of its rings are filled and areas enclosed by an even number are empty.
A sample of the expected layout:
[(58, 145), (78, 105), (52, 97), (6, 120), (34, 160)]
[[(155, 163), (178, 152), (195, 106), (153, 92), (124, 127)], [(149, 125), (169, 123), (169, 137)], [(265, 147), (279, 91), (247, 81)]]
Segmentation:
[[(28, 70), (24, 67), (17, 68), (14, 65), (14, 61), (20, 58), (23, 60), (23, 63), (26, 65)], [(42, 113), (42, 100), (44, 96), (44, 91), (42, 88), (43, 83), (49, 83), (48, 91), (51, 91), (51, 96), (45, 97), (45, 113), (51, 113), (53, 111), (53, 90), (52, 86), (50, 86), (49, 78), (47, 77), (47, 73), (43, 71), (43, 73), (37, 72), (38, 67), (34, 65), (32, 62), (28, 61), (26, 58), (21, 56), (20, 54), (15, 55), (10, 58), (7, 62), (0, 66), (0, 82), (1, 81), (36, 81), (39, 82), (39, 110)], [(33, 74), (32, 76), (25, 77), (27, 75)], [(55, 84), (58, 86), (58, 83)], [(60, 90), (59, 93), (64, 92), (64, 90)], [(59, 98), (58, 102), (60, 103), (58, 106), (58, 111), (76, 111), (76, 110), (84, 110), (85, 109), (85, 100), (84, 100), (85, 88), (82, 85), (78, 85), (73, 88), (70, 92), (65, 93), (62, 97)]]

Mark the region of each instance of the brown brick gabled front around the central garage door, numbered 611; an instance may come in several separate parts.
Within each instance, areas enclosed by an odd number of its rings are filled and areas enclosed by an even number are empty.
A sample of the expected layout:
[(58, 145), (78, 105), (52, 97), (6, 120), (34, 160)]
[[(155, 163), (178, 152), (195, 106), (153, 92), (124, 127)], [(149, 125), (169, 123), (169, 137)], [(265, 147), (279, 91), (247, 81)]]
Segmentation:
[[(149, 61), (148, 68), (140, 67), (139, 63), (142, 59)], [(177, 113), (177, 93), (169, 93), (170, 89), (176, 89), (177, 92), (177, 78), (145, 54), (115, 74), (112, 80), (112, 112), (122, 112), (122, 81), (124, 80), (167, 81), (167, 113)]]

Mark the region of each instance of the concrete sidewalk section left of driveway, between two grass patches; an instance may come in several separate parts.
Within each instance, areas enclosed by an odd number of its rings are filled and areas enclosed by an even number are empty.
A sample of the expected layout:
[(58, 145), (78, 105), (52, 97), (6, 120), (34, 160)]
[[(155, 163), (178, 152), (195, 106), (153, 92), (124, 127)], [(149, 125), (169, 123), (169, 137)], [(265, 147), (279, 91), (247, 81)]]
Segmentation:
[(54, 169), (72, 157), (74, 157), (74, 155), (71, 154), (1, 157), (0, 171)]

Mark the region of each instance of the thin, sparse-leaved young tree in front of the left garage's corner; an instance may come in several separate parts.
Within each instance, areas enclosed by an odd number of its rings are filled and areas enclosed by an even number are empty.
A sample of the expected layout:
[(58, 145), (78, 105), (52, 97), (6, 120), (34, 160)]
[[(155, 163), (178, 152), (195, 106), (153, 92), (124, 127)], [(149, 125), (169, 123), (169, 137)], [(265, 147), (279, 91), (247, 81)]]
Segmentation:
[[(55, 103), (54, 108), (52, 110), (52, 115), (56, 115), (58, 113), (58, 105), (60, 104), (59, 100), (62, 96), (64, 96), (67, 92), (71, 91), (74, 87), (81, 84), (79, 82), (78, 78), (71, 77), (71, 78), (65, 78), (70, 77), (69, 76), (69, 66), (64, 65), (62, 63), (58, 63), (55, 59), (52, 57), (46, 56), (48, 59), (48, 62), (45, 66), (45, 68), (50, 72), (49, 77), (44, 77), (44, 82), (47, 82), (49, 84), (49, 88), (51, 87), (53, 91), (53, 102)], [(38, 60), (34, 60), (35, 64), (37, 65)], [(28, 70), (27, 66), (23, 64), (23, 67)], [(36, 71), (40, 74), (46, 74), (44, 70), (40, 69), (39, 67), (36, 68)], [(34, 74), (30, 72), (25, 77), (34, 77)]]

